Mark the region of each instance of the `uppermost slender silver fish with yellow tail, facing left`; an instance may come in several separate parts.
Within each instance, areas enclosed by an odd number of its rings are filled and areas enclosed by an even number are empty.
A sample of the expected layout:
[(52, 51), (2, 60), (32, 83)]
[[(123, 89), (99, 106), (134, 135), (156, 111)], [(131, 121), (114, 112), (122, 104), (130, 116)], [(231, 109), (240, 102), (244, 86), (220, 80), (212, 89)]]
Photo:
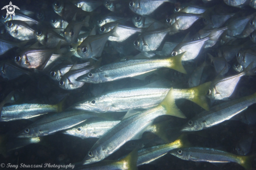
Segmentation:
[(135, 77), (155, 71), (161, 67), (167, 67), (186, 74), (186, 71), (181, 63), (184, 54), (185, 53), (182, 53), (175, 57), (166, 59), (128, 60), (111, 63), (78, 77), (76, 81), (87, 83), (104, 83), (120, 80), (121, 78)]

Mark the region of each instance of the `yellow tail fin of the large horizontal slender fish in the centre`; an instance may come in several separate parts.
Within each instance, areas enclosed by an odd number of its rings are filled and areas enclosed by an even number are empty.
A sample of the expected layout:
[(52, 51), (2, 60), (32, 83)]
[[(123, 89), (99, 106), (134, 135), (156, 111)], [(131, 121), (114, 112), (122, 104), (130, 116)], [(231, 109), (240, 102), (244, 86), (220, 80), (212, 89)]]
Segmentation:
[(212, 82), (206, 82), (196, 87), (187, 88), (188, 91), (193, 92), (193, 98), (187, 98), (190, 101), (193, 101), (195, 104), (201, 106), (205, 110), (209, 110), (208, 103), (206, 101), (206, 95), (209, 91), (210, 85)]

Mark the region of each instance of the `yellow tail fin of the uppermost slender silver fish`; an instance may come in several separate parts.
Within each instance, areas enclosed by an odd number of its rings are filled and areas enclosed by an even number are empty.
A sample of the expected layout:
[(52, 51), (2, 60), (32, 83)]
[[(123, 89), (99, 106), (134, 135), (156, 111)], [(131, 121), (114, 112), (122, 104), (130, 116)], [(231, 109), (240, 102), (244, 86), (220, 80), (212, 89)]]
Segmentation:
[(182, 58), (184, 56), (185, 52), (176, 55), (176, 56), (172, 56), (170, 58), (167, 58), (165, 60), (168, 60), (170, 62), (170, 68), (173, 70), (176, 70), (178, 72), (187, 74), (186, 70), (184, 69), (183, 65), (182, 65)]

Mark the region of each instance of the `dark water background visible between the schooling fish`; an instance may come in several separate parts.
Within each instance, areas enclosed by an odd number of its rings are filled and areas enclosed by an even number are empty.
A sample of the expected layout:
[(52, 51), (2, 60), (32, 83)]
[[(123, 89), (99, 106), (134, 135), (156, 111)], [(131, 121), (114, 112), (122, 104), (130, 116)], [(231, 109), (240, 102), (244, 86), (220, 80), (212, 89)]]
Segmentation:
[[(13, 5), (16, 5), (18, 7), (26, 6), (27, 9), (31, 9), (33, 11), (38, 11), (41, 9), (42, 6), (46, 8), (46, 10), (53, 11), (51, 7), (51, 3), (53, 1), (12, 1)], [(188, 1), (181, 1), (181, 2), (188, 2)], [(232, 11), (237, 12), (240, 10), (239, 8), (233, 8), (227, 6), (222, 1), (219, 1), (219, 3), (223, 4), (224, 7), (227, 7), (228, 9), (232, 8)], [(1, 8), (5, 5), (8, 5), (9, 1), (0, 1)], [(198, 5), (202, 4), (201, 1), (199, 1)], [(158, 8), (152, 15), (152, 17), (156, 20), (165, 21), (165, 18), (168, 17), (173, 13), (174, 5), (170, 3), (165, 3), (163, 6)], [(16, 9), (17, 10), (17, 9)], [(246, 8), (243, 9), (244, 13), (248, 13), (248, 10), (255, 10), (252, 8)], [(5, 11), (6, 12), (6, 11)], [(109, 13), (107, 9), (105, 9), (104, 6), (101, 6), (97, 8), (97, 12), (101, 12), (100, 15), (105, 15)], [(122, 13), (124, 16), (131, 17), (133, 14), (129, 10), (128, 4), (127, 8)], [(197, 21), (190, 29), (183, 31), (181, 33), (177, 33), (176, 35), (170, 37), (171, 40), (175, 40), (178, 37), (184, 37), (188, 31), (191, 31), (191, 35), (194, 35), (199, 29), (202, 29), (204, 27), (203, 21), (199, 20)], [(133, 49), (131, 49), (133, 50)], [(210, 51), (210, 50), (209, 50)], [(208, 52), (209, 52), (208, 51)], [(213, 50), (214, 51), (214, 50)], [(211, 52), (211, 51), (210, 51)], [(4, 56), (1, 56), (0, 60), (6, 59), (6, 58), (12, 58), (15, 56), (16, 51), (10, 51), (6, 53)], [(131, 54), (136, 55), (139, 52), (134, 50)], [(196, 62), (203, 62), (206, 52), (203, 54), (204, 57), (201, 57), (201, 59), (196, 59)], [(104, 51), (102, 54), (103, 61), (102, 65), (111, 63), (114, 61), (117, 61), (120, 56), (117, 51), (114, 49), (109, 49), (108, 51)], [(213, 71), (213, 70), (212, 70)], [(168, 71), (164, 72), (165, 77), (169, 78), (169, 80), (174, 80), (174, 88), (185, 88), (187, 87), (187, 84), (183, 81), (186, 79), (186, 77), (182, 77), (181, 75), (178, 75), (175, 71)], [(235, 72), (230, 69), (229, 73), (235, 74)], [(102, 92), (108, 92), (110, 90), (114, 89), (121, 89), (121, 88), (127, 88), (127, 87), (136, 87), (136, 86), (142, 86), (149, 82), (151, 82), (154, 79), (154, 75), (148, 77), (146, 81), (139, 81), (134, 80), (132, 78), (127, 78), (125, 80), (110, 82), (110, 83), (104, 83), (104, 84), (98, 84), (98, 85), (90, 85), (85, 84), (83, 87), (77, 90), (72, 91), (66, 91), (62, 90), (58, 87), (58, 84), (56, 84), (54, 81), (51, 80), (50, 77), (43, 74), (38, 74), (34, 79), (31, 79), (27, 76), (21, 76), (15, 80), (12, 81), (6, 81), (3, 80), (2, 77), (0, 77), (0, 93), (1, 98), (3, 98), (6, 94), (8, 94), (13, 89), (18, 90), (21, 94), (20, 103), (28, 103), (33, 101), (34, 103), (46, 103), (46, 104), (55, 104), (58, 103), (59, 100), (63, 98), (64, 95), (68, 95), (68, 99), (66, 100), (66, 105), (69, 106), (77, 101), (83, 100), (87, 97), (92, 96), (92, 92), (94, 93), (102, 93)], [(212, 77), (209, 77), (209, 80)], [(256, 92), (255, 88), (256, 79), (255, 77), (242, 77), (238, 86), (236, 87), (236, 90), (234, 94), (232, 95), (233, 98), (242, 97), (250, 95), (251, 93)], [(222, 101), (220, 101), (222, 102)], [(179, 108), (184, 112), (184, 114), (187, 116), (187, 118), (192, 118), (195, 114), (198, 112), (203, 111), (202, 108), (199, 108), (197, 105), (191, 103), (191, 101), (182, 100), (180, 103), (177, 104)], [(185, 106), (185, 107), (184, 107)], [(256, 109), (255, 105), (251, 106), (252, 109)], [(122, 114), (122, 113), (117, 113)], [(162, 119), (165, 119), (167, 117), (164, 117)], [(168, 117), (169, 118), (169, 117)], [(173, 127), (175, 126), (182, 126), (182, 124), (186, 123), (186, 120), (180, 120), (179, 118), (169, 118), (173, 122), (176, 122), (173, 124)], [(177, 120), (177, 121), (176, 121)], [(20, 120), (20, 121), (10, 121), (10, 122), (1, 122), (0, 123), (0, 134), (15, 134), (19, 132), (20, 130), (23, 130), (26, 128), (31, 122), (28, 120)], [(209, 128), (207, 130), (204, 130), (202, 133), (191, 133), (188, 134), (188, 140), (194, 145), (194, 146), (201, 146), (201, 147), (209, 147), (209, 148), (221, 148), (225, 149), (228, 152), (235, 153), (233, 151), (233, 148), (235, 147), (236, 143), (246, 134), (253, 135), (256, 132), (256, 126), (253, 125), (247, 125), (243, 124), (240, 121), (225, 121), (223, 123), (218, 124), (218, 126)], [(175, 132), (170, 132), (170, 135), (172, 135)], [(93, 144), (97, 141), (97, 139), (80, 139), (76, 137), (71, 137), (69, 135), (56, 133), (53, 135), (49, 135), (42, 138), (42, 142), (38, 144), (30, 144), (25, 146), (24, 148), (17, 149), (13, 152), (10, 152), (7, 157), (4, 157), (3, 155), (0, 155), (0, 163), (5, 163), (7, 165), (10, 164), (69, 164), (69, 163), (76, 163), (83, 160), (85, 155), (87, 154), (88, 150), (93, 146)], [(14, 139), (15, 140), (15, 139)], [(255, 154), (256, 152), (256, 143), (255, 138), (252, 142), (252, 148), (250, 154)], [(116, 159), (120, 156), (123, 156), (126, 153), (129, 153), (130, 151), (127, 151), (125, 147), (122, 147), (119, 149), (116, 153), (109, 156), (109, 159)], [(255, 169), (255, 162), (253, 162), (253, 167)], [(10, 168), (0, 168), (0, 169), (10, 169)], [(34, 169), (34, 168), (29, 168)], [(35, 168), (39, 169), (39, 168)], [(55, 168), (44, 168), (44, 169), (55, 169)], [(165, 156), (161, 157), (159, 160), (154, 162), (153, 164), (147, 164), (139, 166), (138, 169), (244, 169), (242, 166), (236, 164), (236, 163), (228, 163), (224, 166), (217, 167), (210, 163), (205, 162), (191, 162), (191, 161), (183, 161), (179, 158), (172, 156), (170, 154), (166, 154)]]

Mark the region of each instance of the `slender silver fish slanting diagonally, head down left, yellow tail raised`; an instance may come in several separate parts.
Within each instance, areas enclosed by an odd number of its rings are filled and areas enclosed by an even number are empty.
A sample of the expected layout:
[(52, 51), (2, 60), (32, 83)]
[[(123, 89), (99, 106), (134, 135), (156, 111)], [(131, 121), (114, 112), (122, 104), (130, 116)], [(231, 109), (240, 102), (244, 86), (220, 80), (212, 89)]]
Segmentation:
[(88, 151), (83, 164), (91, 164), (103, 160), (117, 151), (127, 141), (136, 138), (137, 135), (143, 132), (143, 129), (151, 124), (152, 120), (162, 115), (185, 118), (175, 105), (172, 88), (162, 103), (157, 107), (127, 117), (114, 128), (107, 131), (107, 133), (93, 145), (92, 149)]

